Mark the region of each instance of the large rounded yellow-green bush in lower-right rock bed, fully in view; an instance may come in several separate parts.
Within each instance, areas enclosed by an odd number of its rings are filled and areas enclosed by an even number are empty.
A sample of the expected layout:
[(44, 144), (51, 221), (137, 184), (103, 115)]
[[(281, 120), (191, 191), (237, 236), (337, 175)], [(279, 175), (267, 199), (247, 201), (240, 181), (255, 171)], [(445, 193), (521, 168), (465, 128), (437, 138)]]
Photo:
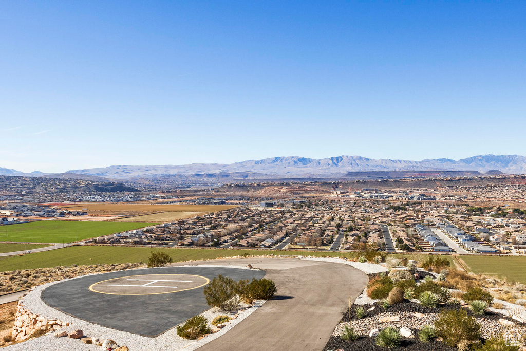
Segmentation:
[(462, 340), (474, 342), (480, 337), (480, 325), (464, 309), (441, 310), (434, 328), (437, 336), (452, 347), (457, 347)]

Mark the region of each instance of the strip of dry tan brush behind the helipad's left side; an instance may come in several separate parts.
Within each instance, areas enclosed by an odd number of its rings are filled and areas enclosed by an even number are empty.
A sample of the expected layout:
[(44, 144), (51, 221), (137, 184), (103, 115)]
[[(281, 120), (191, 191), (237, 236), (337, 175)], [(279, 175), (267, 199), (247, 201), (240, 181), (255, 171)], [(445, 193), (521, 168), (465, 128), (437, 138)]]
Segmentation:
[(37, 285), (54, 282), (55, 280), (74, 278), (92, 273), (113, 272), (142, 267), (143, 264), (123, 263), (123, 264), (101, 264), (89, 266), (72, 265), (68, 267), (57, 266), (55, 268), (37, 268), (24, 270), (11, 270), (0, 272), (0, 294), (9, 294), (18, 290), (29, 289)]

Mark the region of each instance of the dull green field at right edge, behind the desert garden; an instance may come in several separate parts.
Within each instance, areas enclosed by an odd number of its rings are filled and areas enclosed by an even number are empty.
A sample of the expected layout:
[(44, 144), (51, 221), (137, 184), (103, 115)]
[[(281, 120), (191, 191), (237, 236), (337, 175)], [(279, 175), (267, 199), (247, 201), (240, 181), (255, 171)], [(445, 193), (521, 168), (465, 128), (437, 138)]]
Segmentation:
[(526, 284), (526, 257), (524, 256), (460, 256), (468, 269), (476, 274), (506, 277), (508, 282)]

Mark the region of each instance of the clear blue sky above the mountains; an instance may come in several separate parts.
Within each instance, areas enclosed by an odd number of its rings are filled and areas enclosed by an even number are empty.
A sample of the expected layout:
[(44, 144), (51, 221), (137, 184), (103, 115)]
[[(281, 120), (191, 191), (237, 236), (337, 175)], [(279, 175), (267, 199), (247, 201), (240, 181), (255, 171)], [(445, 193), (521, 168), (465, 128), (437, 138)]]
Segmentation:
[(0, 2), (0, 167), (526, 155), (526, 2)]

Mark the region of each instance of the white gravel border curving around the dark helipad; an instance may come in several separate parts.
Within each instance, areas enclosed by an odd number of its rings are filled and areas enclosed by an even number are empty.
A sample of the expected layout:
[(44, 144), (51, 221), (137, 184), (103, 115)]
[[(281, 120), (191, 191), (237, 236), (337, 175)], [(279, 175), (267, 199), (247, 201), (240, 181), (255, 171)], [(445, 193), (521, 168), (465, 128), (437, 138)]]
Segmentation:
[[(225, 267), (225, 268), (239, 268), (239, 269), (250, 269), (247, 267), (240, 266), (219, 266), (219, 265), (186, 265), (187, 267)], [(185, 267), (185, 266), (183, 266)], [(148, 268), (140, 268), (148, 269)], [(135, 270), (135, 269), (134, 269)], [(106, 272), (110, 273), (110, 272)], [(101, 273), (104, 274), (104, 273)], [(93, 275), (93, 274), (90, 274)], [(70, 279), (78, 279), (84, 276), (79, 276)], [(84, 335), (89, 337), (96, 337), (100, 340), (112, 339), (118, 345), (128, 346), (132, 351), (153, 351), (153, 350), (185, 350), (193, 351), (212, 340), (224, 335), (228, 330), (232, 329), (235, 325), (240, 323), (243, 319), (252, 314), (256, 309), (261, 307), (266, 301), (255, 300), (254, 303), (247, 307), (246, 305), (241, 307), (239, 314), (236, 319), (232, 319), (226, 326), (219, 330), (219, 332), (210, 334), (201, 340), (187, 340), (179, 337), (176, 333), (176, 328), (172, 328), (167, 332), (157, 337), (146, 337), (137, 334), (121, 332), (107, 327), (103, 327), (94, 323), (86, 322), (85, 320), (75, 318), (60, 312), (59, 310), (49, 307), (41, 298), (43, 290), (54, 284), (64, 282), (70, 279), (58, 280), (57, 282), (51, 282), (44, 285), (39, 285), (31, 290), (26, 296), (22, 297), (24, 308), (31, 310), (32, 313), (42, 315), (48, 319), (59, 319), (62, 322), (72, 323), (69, 327), (62, 327), (59, 330), (65, 330), (71, 332), (75, 329), (81, 329)], [(208, 318), (208, 322), (211, 322), (211, 318), (216, 315), (229, 315), (228, 313), (217, 313), (216, 308), (211, 308), (203, 313)], [(230, 314), (232, 315), (232, 314)], [(130, 321), (133, 322), (133, 321)], [(56, 338), (55, 331), (50, 332), (41, 337), (28, 340), (26, 342), (7, 346), (5, 349), (8, 351), (42, 351), (50, 349), (74, 349), (78, 351), (100, 351), (101, 348), (94, 344), (84, 344), (80, 340), (70, 339), (68, 337)]]

